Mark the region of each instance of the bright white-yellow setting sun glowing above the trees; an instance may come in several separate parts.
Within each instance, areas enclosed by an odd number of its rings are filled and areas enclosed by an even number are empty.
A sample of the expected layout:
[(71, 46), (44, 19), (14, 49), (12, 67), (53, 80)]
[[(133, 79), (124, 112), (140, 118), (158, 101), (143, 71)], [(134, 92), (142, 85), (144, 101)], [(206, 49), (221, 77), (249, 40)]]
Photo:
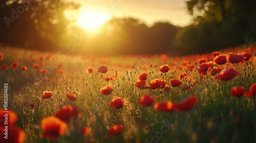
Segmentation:
[(111, 16), (96, 10), (81, 10), (77, 25), (87, 31), (97, 30), (105, 21), (111, 19)]

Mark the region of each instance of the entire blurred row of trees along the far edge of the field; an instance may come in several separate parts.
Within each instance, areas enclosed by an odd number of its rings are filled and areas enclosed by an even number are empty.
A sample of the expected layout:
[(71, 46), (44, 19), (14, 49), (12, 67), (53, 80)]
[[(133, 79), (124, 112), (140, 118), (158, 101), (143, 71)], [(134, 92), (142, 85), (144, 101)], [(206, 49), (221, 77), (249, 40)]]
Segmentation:
[(73, 53), (187, 55), (220, 50), (256, 40), (256, 1), (190, 0), (187, 11), (191, 24), (179, 28), (167, 21), (147, 26), (133, 17), (113, 17), (101, 32), (88, 37), (87, 31), (65, 16), (79, 5), (60, 0), (1, 1), (0, 42), (39, 51)]

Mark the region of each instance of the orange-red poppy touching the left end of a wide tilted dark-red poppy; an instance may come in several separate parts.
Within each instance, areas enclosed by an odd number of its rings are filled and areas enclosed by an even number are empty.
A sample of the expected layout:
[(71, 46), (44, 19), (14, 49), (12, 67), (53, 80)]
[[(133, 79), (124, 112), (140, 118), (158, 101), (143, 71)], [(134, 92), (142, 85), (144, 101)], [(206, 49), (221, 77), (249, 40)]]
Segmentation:
[(170, 101), (160, 102), (154, 105), (154, 109), (156, 111), (161, 111), (161, 112), (173, 112), (174, 104), (173, 102), (170, 102)]

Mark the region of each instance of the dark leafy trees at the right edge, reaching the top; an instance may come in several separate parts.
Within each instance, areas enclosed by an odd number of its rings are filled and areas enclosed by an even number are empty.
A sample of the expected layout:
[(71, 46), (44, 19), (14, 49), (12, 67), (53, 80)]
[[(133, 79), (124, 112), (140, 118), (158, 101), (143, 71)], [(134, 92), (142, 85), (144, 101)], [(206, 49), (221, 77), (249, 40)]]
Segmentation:
[(190, 0), (186, 4), (194, 26), (182, 28), (174, 40), (175, 48), (183, 53), (205, 53), (256, 39), (256, 20), (252, 18), (256, 1)]

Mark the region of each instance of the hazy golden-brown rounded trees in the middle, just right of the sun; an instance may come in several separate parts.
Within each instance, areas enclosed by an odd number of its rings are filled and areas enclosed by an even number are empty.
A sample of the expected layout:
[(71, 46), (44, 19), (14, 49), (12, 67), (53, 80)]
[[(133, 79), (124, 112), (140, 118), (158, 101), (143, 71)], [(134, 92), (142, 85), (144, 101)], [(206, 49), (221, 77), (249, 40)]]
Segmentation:
[(156, 22), (148, 27), (139, 19), (112, 18), (100, 34), (87, 42), (87, 53), (162, 54), (172, 53), (172, 42), (177, 29), (168, 22)]

